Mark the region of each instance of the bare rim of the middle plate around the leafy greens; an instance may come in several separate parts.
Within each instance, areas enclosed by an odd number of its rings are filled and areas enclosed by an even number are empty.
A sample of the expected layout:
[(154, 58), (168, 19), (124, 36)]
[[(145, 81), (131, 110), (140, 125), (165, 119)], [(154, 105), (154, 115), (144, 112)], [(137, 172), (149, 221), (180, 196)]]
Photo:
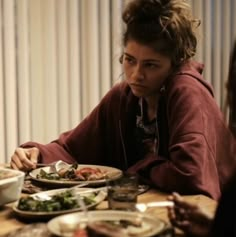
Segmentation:
[[(44, 196), (44, 195), (48, 195), (48, 196), (52, 196), (55, 194), (59, 194), (61, 192), (65, 192), (67, 189), (63, 188), (63, 189), (54, 189), (54, 190), (50, 190), (50, 191), (45, 191), (45, 192), (39, 192), (39, 193), (35, 193), (32, 194), (30, 196)], [(83, 193), (84, 191), (87, 190), (91, 190), (91, 193), (93, 192), (92, 188), (77, 188), (76, 193), (79, 193), (81, 191), (81, 193)], [(101, 203), (107, 196), (107, 192), (104, 190), (100, 190), (98, 192), (94, 192), (96, 194), (96, 196), (94, 197), (94, 203), (90, 204), (87, 206), (87, 209), (92, 209), (95, 206), (97, 206), (99, 203)], [(83, 195), (83, 194), (81, 194)], [(52, 218), (58, 215), (62, 215), (62, 214), (67, 214), (67, 213), (71, 213), (71, 212), (75, 212), (75, 211), (81, 211), (81, 208), (74, 208), (74, 209), (68, 209), (68, 210), (62, 210), (62, 211), (52, 211), (52, 212), (33, 212), (33, 211), (23, 211), (17, 208), (18, 206), (18, 201), (14, 203), (13, 205), (13, 211), (20, 217), (23, 218), (33, 218), (33, 219), (37, 219), (37, 218)]]

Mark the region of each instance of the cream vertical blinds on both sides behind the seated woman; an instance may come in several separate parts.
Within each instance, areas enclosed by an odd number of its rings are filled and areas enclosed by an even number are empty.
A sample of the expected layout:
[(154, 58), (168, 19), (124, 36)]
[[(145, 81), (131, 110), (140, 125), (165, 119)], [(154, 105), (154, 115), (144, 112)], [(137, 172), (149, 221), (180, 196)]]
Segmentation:
[[(119, 80), (128, 1), (0, 0), (0, 163), (76, 126)], [(236, 0), (190, 2), (202, 21), (196, 58), (223, 108)]]

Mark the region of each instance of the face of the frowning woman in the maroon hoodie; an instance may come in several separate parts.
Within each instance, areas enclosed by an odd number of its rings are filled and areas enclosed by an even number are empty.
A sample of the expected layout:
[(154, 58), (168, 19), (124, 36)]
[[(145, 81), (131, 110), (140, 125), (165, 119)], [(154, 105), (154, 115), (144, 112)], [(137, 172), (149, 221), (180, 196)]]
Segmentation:
[(124, 50), (126, 80), (137, 97), (156, 97), (171, 73), (171, 59), (152, 48), (129, 41)]

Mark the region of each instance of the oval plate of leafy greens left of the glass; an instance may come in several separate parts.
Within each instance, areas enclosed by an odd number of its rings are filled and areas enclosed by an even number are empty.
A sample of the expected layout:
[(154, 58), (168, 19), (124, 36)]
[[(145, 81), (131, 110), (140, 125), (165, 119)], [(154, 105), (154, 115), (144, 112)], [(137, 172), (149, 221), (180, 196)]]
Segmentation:
[(58, 215), (92, 209), (107, 196), (106, 188), (63, 188), (21, 197), (13, 205), (20, 217), (49, 219)]

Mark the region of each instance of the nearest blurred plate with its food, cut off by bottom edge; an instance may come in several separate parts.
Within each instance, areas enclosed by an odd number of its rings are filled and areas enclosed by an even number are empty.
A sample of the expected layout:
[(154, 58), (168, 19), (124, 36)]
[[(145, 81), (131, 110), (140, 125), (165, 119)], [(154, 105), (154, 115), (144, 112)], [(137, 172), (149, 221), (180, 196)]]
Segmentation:
[(150, 214), (118, 210), (71, 213), (48, 222), (49, 231), (62, 237), (105, 236), (107, 233), (117, 237), (150, 237), (158, 236), (168, 227), (166, 222)]

